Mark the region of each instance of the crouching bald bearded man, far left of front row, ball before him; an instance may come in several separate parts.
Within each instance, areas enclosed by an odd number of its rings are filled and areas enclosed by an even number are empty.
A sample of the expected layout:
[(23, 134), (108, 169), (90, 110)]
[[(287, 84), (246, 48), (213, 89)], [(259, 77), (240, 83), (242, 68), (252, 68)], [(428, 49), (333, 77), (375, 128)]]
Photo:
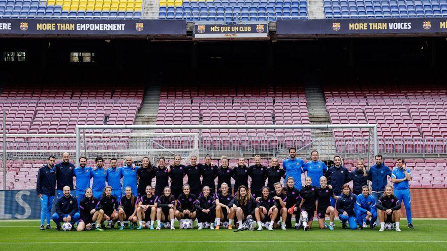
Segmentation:
[[(72, 226), (81, 217), (79, 214), (78, 201), (70, 193), (70, 187), (63, 187), (63, 196), (56, 201), (56, 212), (53, 214), (53, 221), (56, 223), (56, 229), (60, 230), (60, 222), (69, 222)], [(73, 227), (72, 230), (75, 228)]]

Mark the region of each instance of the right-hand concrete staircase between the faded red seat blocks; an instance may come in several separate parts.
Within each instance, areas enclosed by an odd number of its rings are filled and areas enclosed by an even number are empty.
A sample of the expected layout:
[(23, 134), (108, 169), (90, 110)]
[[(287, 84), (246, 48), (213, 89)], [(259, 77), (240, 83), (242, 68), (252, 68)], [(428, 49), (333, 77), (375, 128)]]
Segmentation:
[[(326, 101), (321, 84), (306, 84), (304, 91), (307, 99), (307, 111), (309, 112), (309, 121), (311, 125), (330, 124), (329, 114), (326, 111)], [(321, 129), (312, 129), (312, 148), (325, 153), (335, 153), (334, 135), (330, 131)], [(332, 140), (331, 140), (332, 139)], [(324, 150), (324, 151), (323, 151)], [(309, 153), (310, 155), (310, 153)], [(327, 157), (321, 155), (321, 157)], [(332, 158), (333, 156), (329, 156)]]

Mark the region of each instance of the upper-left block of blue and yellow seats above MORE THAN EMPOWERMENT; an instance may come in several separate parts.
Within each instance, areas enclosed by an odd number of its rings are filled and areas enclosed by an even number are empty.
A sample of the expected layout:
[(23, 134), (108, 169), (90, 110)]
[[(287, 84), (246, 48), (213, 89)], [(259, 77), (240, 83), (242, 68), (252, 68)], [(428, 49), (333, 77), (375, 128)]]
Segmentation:
[(0, 0), (2, 18), (141, 18), (143, 0)]

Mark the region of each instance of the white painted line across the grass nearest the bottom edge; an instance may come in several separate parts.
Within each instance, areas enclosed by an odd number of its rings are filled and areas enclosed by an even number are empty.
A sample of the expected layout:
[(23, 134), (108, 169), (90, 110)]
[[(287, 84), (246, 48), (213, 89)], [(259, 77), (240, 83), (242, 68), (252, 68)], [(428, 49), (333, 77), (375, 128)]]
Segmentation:
[(219, 240), (205, 240), (205, 241), (194, 241), (194, 240), (185, 240), (185, 241), (65, 241), (65, 242), (0, 242), (0, 244), (85, 244), (85, 243), (116, 243), (116, 244), (125, 244), (125, 243), (303, 243), (303, 242), (377, 242), (377, 243), (446, 243), (444, 240), (434, 240), (434, 241), (426, 241), (426, 240), (237, 240), (237, 241), (219, 241)]

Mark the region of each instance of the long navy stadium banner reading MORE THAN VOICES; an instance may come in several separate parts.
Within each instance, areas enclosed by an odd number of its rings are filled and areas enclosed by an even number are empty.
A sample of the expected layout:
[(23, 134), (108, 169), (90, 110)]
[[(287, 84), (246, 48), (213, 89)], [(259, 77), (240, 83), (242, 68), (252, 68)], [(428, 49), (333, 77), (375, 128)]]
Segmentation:
[(447, 33), (447, 19), (278, 20), (278, 35)]

